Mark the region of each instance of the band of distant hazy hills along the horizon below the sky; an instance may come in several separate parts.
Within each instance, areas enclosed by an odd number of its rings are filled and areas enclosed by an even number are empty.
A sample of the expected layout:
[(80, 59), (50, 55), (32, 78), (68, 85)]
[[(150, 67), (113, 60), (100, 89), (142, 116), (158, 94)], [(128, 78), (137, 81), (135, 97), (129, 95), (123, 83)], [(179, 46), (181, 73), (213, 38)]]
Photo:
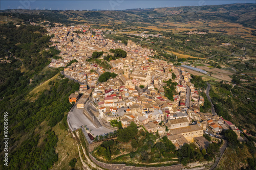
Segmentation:
[[(49, 20), (62, 23), (89, 22), (107, 24), (113, 21), (160, 25), (167, 22), (224, 21), (240, 23), (244, 27), (256, 28), (255, 4), (228, 4), (215, 6), (189, 6), (155, 9), (129, 9), (122, 11), (47, 11), (47, 10), (2, 10), (14, 17), (30, 21)], [(15, 14), (16, 13), (16, 14)], [(17, 14), (18, 13), (18, 14)], [(26, 17), (24, 17), (24, 15)], [(28, 17), (28, 15), (30, 17)], [(167, 25), (168, 26), (168, 25)]]

